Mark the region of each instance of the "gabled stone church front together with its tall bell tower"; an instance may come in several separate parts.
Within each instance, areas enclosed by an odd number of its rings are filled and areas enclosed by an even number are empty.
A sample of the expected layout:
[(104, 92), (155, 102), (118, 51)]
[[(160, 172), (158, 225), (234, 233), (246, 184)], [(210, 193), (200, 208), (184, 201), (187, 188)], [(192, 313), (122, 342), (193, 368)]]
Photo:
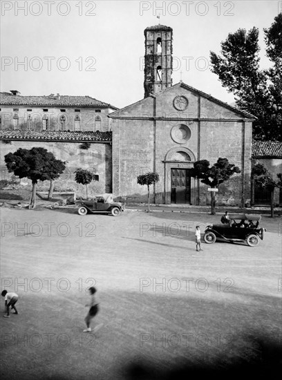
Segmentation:
[(113, 193), (140, 201), (147, 189), (136, 178), (160, 175), (153, 189), (156, 203), (206, 205), (207, 186), (191, 178), (197, 160), (214, 164), (227, 158), (241, 169), (220, 185), (218, 202), (250, 202), (252, 121), (248, 113), (182, 82), (172, 86), (172, 30), (144, 31), (144, 99), (109, 115), (113, 130)]

